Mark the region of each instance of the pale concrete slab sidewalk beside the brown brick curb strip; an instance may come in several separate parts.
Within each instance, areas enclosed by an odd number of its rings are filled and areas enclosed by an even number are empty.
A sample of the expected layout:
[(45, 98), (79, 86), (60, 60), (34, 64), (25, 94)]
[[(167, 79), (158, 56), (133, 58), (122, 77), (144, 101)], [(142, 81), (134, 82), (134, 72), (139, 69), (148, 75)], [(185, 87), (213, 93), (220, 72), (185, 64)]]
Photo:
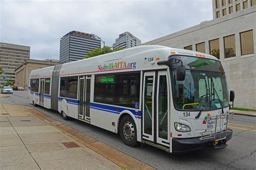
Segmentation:
[(0, 169), (121, 169), (29, 109), (0, 103)]

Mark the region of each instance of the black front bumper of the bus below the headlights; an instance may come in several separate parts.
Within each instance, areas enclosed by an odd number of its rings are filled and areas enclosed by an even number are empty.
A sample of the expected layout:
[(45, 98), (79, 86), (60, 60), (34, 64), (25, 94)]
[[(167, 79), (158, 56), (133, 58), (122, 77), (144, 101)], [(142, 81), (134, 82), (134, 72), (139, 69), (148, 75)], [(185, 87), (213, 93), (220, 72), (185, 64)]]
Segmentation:
[[(214, 146), (214, 138), (200, 140), (200, 137), (196, 138), (172, 138), (172, 153), (186, 153), (193, 150), (199, 150), (204, 147), (214, 147), (214, 148), (225, 148), (227, 146), (226, 142), (232, 138), (232, 129), (227, 129), (227, 138), (221, 140), (222, 146)], [(216, 139), (220, 138), (220, 133), (216, 133)]]

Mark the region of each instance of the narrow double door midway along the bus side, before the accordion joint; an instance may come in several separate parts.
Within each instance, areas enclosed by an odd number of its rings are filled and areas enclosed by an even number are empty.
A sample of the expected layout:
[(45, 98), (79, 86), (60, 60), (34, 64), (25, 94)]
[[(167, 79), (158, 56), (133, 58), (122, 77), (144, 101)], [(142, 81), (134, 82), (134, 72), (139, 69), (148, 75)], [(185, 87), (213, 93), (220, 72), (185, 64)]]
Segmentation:
[(91, 77), (79, 78), (78, 118), (90, 122)]

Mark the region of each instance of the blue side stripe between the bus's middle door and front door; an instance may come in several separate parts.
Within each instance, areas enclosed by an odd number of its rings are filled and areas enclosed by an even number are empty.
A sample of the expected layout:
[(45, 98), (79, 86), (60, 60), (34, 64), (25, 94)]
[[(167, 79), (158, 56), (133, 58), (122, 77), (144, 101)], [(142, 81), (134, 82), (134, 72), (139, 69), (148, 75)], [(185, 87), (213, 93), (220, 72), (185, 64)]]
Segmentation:
[[(124, 110), (129, 110), (137, 118), (141, 117), (141, 111), (136, 111), (133, 109), (120, 108), (120, 107), (115, 107), (115, 106), (110, 106), (110, 105), (99, 104), (99, 103), (91, 103), (91, 108), (102, 110), (102, 111), (112, 112), (114, 114), (120, 114), (120, 112), (122, 112)], [(136, 113), (137, 113), (137, 115), (136, 115)]]

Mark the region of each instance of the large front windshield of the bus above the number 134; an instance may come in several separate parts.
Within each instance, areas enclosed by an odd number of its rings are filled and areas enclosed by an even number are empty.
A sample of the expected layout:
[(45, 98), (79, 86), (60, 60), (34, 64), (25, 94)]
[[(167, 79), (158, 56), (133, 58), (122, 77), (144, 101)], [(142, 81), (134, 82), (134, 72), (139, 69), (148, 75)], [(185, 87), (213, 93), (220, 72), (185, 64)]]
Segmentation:
[[(228, 107), (226, 77), (217, 60), (174, 56), (186, 68), (184, 81), (176, 80), (176, 63), (171, 68), (173, 101), (178, 110), (214, 110)], [(173, 58), (173, 56), (172, 56)]]

